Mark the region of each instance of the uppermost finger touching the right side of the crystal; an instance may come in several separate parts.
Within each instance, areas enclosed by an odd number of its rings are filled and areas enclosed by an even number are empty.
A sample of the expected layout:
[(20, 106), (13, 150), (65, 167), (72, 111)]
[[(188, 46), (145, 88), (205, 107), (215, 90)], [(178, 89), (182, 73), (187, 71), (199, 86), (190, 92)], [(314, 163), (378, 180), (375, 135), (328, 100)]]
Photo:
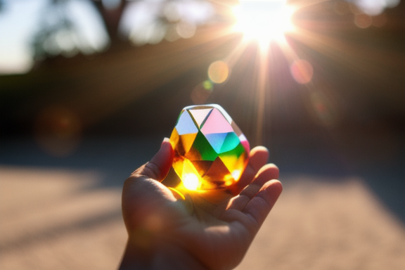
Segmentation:
[(264, 146), (257, 146), (250, 151), (249, 163), (246, 166), (245, 172), (240, 177), (238, 183), (233, 187), (232, 193), (239, 194), (245, 186), (248, 186), (255, 177), (261, 167), (263, 167), (269, 159), (269, 150)]

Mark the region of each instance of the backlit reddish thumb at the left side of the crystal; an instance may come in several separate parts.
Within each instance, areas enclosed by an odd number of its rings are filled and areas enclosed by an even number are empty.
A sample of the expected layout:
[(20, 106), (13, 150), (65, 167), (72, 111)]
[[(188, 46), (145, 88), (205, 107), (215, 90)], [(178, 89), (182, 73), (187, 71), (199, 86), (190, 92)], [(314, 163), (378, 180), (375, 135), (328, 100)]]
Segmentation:
[(165, 138), (150, 162), (143, 165), (133, 173), (133, 175), (143, 175), (150, 179), (162, 181), (165, 179), (170, 167), (172, 167), (174, 151), (169, 139)]

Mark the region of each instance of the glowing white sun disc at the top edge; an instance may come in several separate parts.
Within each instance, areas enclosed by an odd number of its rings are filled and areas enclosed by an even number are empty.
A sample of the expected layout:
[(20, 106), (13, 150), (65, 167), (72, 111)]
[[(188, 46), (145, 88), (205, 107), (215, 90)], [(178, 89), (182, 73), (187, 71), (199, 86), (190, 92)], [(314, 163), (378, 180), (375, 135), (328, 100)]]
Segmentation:
[(243, 32), (245, 39), (256, 39), (260, 46), (280, 41), (285, 32), (293, 30), (293, 8), (286, 0), (240, 0), (233, 8), (236, 32)]

